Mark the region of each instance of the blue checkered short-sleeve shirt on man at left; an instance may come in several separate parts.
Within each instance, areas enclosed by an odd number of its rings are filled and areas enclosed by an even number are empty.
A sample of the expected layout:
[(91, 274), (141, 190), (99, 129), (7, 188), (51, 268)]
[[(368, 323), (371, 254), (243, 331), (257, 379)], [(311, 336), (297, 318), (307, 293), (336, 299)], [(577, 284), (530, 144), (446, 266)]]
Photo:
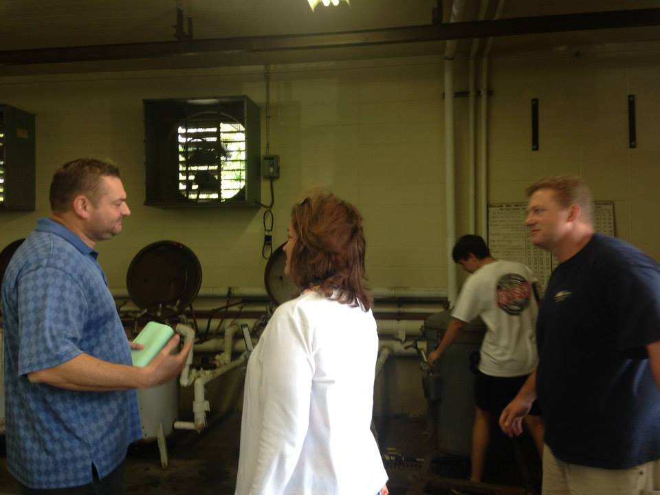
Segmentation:
[(131, 364), (96, 256), (63, 225), (40, 219), (5, 272), (7, 467), (28, 487), (86, 485), (92, 465), (103, 478), (142, 437), (135, 391), (70, 391), (28, 380), (80, 353)]

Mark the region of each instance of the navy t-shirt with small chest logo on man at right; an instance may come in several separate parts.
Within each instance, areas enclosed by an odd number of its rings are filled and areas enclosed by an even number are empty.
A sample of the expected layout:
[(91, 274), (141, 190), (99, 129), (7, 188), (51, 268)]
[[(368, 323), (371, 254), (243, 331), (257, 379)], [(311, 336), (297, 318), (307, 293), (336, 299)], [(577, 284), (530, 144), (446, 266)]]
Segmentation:
[(660, 459), (660, 391), (646, 345), (660, 340), (660, 270), (595, 234), (553, 272), (537, 322), (545, 443), (573, 464), (623, 469)]

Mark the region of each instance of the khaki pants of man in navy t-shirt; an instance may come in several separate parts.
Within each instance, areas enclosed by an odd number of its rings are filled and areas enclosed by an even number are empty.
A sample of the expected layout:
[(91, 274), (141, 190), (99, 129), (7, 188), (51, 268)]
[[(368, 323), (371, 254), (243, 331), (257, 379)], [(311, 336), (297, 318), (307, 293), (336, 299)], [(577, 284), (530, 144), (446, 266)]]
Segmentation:
[(660, 494), (660, 461), (622, 470), (569, 464), (543, 447), (542, 495)]

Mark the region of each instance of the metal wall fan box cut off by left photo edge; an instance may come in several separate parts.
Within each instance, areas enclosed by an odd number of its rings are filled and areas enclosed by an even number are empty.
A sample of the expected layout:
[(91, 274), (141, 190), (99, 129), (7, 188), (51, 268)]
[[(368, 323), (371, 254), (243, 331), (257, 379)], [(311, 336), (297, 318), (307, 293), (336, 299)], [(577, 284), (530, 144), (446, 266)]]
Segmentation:
[(34, 115), (0, 104), (0, 211), (34, 211)]

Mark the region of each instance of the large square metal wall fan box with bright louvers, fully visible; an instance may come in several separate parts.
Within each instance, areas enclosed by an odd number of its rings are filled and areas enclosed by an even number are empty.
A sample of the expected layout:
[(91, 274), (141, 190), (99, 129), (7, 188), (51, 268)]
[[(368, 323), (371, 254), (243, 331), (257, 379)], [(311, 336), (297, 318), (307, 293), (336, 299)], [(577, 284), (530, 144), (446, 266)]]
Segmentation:
[(259, 206), (260, 132), (247, 96), (144, 100), (145, 204)]

